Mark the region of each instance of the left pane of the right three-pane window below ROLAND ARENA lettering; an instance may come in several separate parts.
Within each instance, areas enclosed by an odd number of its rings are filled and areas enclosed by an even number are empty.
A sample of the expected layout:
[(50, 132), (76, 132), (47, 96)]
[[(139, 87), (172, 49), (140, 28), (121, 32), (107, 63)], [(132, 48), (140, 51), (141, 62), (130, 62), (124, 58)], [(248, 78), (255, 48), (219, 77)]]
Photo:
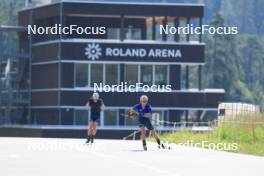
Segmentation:
[(125, 82), (135, 85), (138, 82), (138, 65), (125, 65)]

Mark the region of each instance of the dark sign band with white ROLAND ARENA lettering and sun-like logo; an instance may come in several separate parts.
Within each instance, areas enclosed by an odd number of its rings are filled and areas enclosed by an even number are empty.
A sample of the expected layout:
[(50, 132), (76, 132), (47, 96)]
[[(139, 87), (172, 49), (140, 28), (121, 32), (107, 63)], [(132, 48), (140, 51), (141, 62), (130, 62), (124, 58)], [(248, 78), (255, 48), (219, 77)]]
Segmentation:
[(203, 44), (62, 43), (62, 59), (120, 62), (203, 63)]

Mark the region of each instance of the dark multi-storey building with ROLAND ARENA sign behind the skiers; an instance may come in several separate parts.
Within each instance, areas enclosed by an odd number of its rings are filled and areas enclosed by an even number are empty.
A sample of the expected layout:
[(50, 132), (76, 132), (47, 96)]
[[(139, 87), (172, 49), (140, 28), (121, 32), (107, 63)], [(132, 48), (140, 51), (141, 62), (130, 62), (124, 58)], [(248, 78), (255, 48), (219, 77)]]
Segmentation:
[[(100, 128), (134, 128), (135, 121), (122, 114), (150, 98), (159, 118), (169, 121), (216, 117), (224, 90), (202, 86), (205, 64), (201, 35), (161, 34), (169, 27), (202, 25), (200, 4), (153, 4), (114, 2), (59, 2), (19, 12), (19, 25), (27, 27), (91, 27), (92, 34), (24, 34), (31, 43), (30, 123), (87, 125), (84, 105), (102, 85), (171, 85), (171, 92), (101, 92), (106, 110)], [(102, 34), (100, 29), (105, 27)]]

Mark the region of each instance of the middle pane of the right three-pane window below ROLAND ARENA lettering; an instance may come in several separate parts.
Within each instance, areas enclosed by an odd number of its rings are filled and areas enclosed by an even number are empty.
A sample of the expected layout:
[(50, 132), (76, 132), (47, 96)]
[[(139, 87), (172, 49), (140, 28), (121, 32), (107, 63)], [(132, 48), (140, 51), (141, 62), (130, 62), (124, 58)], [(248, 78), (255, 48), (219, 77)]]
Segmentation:
[(153, 83), (153, 68), (152, 65), (141, 65), (140, 67), (140, 82), (146, 85)]

